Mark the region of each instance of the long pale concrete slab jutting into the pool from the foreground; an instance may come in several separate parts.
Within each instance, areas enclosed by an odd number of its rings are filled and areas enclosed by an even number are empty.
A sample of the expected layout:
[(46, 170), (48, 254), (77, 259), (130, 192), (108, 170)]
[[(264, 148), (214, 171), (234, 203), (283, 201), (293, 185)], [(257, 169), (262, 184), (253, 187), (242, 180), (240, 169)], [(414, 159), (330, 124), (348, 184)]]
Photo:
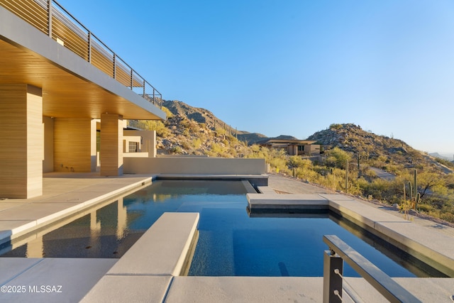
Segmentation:
[(198, 223), (199, 213), (162, 214), (82, 302), (161, 302), (172, 278), (189, 270)]

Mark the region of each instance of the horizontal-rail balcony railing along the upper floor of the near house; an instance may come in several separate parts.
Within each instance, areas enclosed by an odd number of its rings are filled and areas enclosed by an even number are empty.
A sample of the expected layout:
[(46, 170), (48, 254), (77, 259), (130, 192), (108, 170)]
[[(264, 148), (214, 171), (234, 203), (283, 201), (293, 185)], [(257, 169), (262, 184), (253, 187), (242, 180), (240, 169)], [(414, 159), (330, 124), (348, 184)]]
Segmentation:
[(0, 5), (155, 106), (162, 94), (55, 0), (0, 0)]

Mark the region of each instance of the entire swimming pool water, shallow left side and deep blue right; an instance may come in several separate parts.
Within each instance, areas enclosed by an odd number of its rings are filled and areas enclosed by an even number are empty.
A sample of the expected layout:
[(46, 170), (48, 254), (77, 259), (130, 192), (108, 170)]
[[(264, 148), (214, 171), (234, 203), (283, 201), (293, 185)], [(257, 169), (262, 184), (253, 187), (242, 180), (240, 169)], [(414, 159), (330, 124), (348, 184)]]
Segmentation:
[[(189, 275), (322, 276), (324, 234), (336, 234), (392, 277), (427, 275), (387, 257), (328, 214), (251, 218), (246, 192), (242, 182), (159, 180), (2, 256), (119, 258), (163, 212), (198, 211), (199, 241)], [(347, 266), (344, 273), (357, 276)]]

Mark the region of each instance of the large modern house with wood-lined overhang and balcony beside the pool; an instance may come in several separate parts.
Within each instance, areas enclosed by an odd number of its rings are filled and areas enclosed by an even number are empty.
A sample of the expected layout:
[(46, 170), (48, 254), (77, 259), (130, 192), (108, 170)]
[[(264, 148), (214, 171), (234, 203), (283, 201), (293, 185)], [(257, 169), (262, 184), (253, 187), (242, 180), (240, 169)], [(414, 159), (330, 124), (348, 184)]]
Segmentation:
[(161, 101), (57, 2), (0, 1), (1, 197), (40, 196), (44, 172), (99, 160), (102, 176), (121, 175), (123, 120), (165, 119)]

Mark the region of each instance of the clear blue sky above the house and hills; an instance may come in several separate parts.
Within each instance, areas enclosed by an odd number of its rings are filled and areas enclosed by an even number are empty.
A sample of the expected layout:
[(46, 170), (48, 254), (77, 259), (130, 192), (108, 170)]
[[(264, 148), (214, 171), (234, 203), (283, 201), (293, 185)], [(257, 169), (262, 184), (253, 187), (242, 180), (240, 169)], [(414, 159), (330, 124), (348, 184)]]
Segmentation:
[(305, 139), (355, 123), (454, 153), (452, 0), (59, 0), (164, 99)]

